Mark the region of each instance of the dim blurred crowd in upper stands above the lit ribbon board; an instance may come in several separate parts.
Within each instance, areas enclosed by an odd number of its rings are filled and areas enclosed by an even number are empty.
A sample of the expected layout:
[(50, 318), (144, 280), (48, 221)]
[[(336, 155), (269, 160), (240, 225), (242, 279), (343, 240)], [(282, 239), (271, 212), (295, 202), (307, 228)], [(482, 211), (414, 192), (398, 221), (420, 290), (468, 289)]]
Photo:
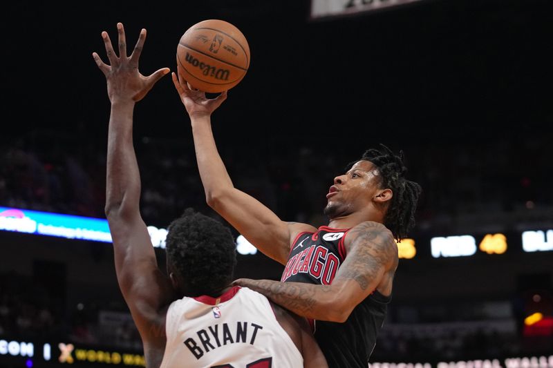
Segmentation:
[[(0, 206), (104, 217), (106, 147), (98, 143), (104, 141), (42, 130), (4, 142)], [(205, 209), (189, 142), (151, 137), (135, 141), (141, 211), (147, 223), (165, 226), (186, 206)], [(498, 139), (485, 147), (436, 142), (392, 148), (404, 149), (409, 178), (423, 188), (415, 231), (551, 223), (553, 148), (544, 137)], [(351, 153), (291, 145), (272, 154), (254, 146), (219, 147), (237, 188), (284, 220), (313, 224), (326, 221), (322, 209), (333, 178), (364, 149)]]

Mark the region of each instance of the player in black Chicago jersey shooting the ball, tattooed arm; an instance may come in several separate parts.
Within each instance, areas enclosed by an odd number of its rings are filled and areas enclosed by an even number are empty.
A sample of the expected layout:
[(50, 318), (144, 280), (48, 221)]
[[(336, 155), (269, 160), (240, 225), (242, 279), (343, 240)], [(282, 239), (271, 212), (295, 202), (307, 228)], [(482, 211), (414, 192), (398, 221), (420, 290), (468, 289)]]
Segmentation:
[(191, 90), (172, 75), (191, 121), (207, 203), (268, 257), (285, 265), (281, 282), (239, 279), (270, 300), (315, 320), (315, 338), (329, 367), (363, 367), (391, 300), (397, 244), (414, 226), (421, 192), (406, 180), (402, 153), (369, 149), (330, 185), (319, 229), (283, 222), (234, 188), (218, 155), (211, 114), (226, 99)]

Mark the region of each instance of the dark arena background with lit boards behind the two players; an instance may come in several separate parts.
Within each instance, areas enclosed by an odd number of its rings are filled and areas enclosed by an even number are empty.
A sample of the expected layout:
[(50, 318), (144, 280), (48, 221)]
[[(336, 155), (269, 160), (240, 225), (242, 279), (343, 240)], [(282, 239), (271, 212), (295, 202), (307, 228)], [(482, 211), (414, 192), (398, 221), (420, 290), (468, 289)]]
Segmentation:
[[(2, 6), (0, 367), (141, 367), (104, 216), (109, 99), (91, 56), (124, 23), (140, 71), (176, 71), (204, 19), (251, 65), (213, 115), (234, 185), (326, 224), (332, 179), (379, 142), (422, 185), (373, 368), (553, 367), (553, 1), (8, 1)], [(130, 50), (129, 50), (130, 52)], [(161, 267), (187, 206), (213, 217), (169, 76), (135, 108)], [(234, 231), (234, 230), (233, 230)], [(236, 278), (283, 270), (236, 231)]]

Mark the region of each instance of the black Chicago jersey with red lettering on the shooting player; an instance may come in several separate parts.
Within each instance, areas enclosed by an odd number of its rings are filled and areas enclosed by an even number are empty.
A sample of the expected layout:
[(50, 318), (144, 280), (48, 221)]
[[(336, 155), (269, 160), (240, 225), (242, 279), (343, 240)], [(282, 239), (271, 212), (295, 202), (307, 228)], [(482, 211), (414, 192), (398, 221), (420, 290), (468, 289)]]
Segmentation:
[[(299, 233), (281, 281), (331, 284), (346, 258), (348, 230), (321, 226), (316, 233)], [(390, 299), (374, 291), (353, 309), (346, 322), (315, 321), (315, 338), (330, 368), (367, 367)]]

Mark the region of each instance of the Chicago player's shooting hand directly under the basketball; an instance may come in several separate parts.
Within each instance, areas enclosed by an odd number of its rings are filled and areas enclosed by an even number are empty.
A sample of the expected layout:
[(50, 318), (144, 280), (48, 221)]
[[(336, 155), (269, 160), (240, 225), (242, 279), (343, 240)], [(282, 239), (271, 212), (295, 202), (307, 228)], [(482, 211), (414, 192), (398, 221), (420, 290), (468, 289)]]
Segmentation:
[(225, 90), (220, 95), (213, 99), (205, 97), (205, 93), (200, 90), (191, 89), (185, 79), (173, 72), (171, 74), (175, 88), (180, 95), (180, 101), (185, 105), (188, 115), (193, 116), (209, 116), (223, 104), (227, 99), (227, 91)]

